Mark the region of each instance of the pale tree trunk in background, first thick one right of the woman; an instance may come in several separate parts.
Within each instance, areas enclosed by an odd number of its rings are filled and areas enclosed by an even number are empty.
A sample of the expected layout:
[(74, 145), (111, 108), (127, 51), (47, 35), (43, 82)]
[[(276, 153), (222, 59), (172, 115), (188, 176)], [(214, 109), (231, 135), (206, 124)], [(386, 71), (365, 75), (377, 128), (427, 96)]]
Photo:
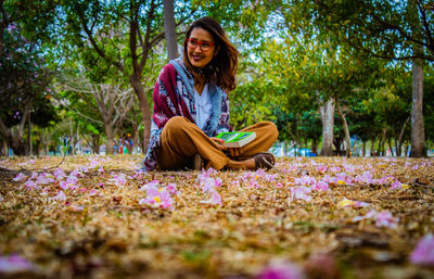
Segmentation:
[(321, 156), (333, 155), (333, 126), (334, 126), (334, 103), (333, 100), (327, 101), (319, 107), (322, 123), (322, 147)]

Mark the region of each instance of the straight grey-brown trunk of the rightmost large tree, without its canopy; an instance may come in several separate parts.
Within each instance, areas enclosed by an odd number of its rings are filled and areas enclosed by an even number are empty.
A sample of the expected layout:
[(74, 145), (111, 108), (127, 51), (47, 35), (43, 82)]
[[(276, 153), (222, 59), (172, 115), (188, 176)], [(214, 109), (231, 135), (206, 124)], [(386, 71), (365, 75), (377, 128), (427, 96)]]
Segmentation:
[(424, 156), (426, 156), (426, 149), (423, 125), (423, 67), (422, 62), (416, 60), (413, 61), (410, 157)]

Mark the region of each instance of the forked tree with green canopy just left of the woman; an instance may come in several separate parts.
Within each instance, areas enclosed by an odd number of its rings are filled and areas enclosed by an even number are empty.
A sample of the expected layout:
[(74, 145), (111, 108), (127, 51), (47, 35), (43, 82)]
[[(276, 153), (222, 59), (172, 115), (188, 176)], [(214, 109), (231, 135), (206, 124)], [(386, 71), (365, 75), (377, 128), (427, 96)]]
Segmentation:
[[(73, 46), (75, 52), (82, 53), (80, 59), (87, 66), (95, 62), (104, 63), (106, 72), (114, 68), (129, 81), (139, 100), (145, 127), (143, 152), (148, 147), (151, 127), (143, 74), (153, 48), (165, 37), (162, 4), (157, 0), (93, 0), (64, 1), (59, 7), (63, 11), (59, 22), (66, 26), (64, 46)], [(190, 17), (191, 13), (186, 12), (188, 8), (186, 4), (181, 9), (176, 26)]]

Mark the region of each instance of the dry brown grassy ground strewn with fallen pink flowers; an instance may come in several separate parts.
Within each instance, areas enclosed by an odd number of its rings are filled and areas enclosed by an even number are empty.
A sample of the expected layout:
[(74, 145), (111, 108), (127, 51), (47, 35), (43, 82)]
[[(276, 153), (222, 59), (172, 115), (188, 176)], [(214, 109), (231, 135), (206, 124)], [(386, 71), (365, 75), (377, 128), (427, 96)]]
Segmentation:
[(140, 160), (0, 160), (0, 278), (434, 278), (433, 158)]

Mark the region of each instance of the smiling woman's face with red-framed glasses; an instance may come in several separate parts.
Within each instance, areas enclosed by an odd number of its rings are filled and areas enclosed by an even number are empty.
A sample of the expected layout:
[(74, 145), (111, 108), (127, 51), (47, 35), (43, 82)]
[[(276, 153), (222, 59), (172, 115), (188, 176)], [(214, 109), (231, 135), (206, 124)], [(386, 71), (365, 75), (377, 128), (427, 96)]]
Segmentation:
[(205, 67), (213, 60), (216, 52), (213, 36), (201, 27), (194, 27), (187, 41), (187, 52), (193, 66)]

